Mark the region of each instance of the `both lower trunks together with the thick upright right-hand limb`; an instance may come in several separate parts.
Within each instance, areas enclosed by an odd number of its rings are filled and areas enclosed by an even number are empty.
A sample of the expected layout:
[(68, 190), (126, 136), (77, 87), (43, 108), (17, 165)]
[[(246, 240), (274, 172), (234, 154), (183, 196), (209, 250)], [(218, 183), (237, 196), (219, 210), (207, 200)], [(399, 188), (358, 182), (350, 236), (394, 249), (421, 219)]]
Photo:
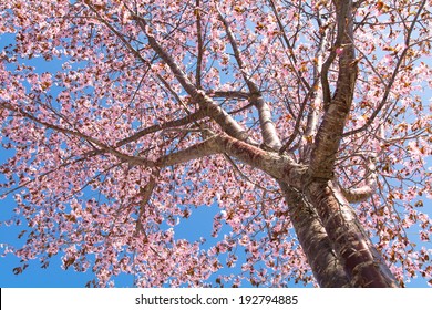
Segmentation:
[[(299, 242), (320, 285), (338, 287), (341, 279), (343, 281), (341, 275), (344, 275), (351, 287), (397, 287), (393, 275), (362, 229), (356, 213), (340, 188), (332, 184), (358, 73), (352, 1), (333, 0), (333, 4), (337, 38), (335, 50), (321, 73), (325, 114), (315, 138), (307, 176), (302, 178), (302, 185), (297, 187), (302, 193), (298, 197), (296, 193), (281, 187), (287, 195)], [(327, 74), (337, 56), (336, 49), (340, 51), (339, 72), (335, 93), (330, 96)], [(289, 178), (285, 179), (287, 184), (294, 185)], [(300, 199), (305, 202), (300, 203)], [(308, 217), (306, 209), (317, 216)], [(330, 258), (332, 252), (336, 255), (333, 259)]]

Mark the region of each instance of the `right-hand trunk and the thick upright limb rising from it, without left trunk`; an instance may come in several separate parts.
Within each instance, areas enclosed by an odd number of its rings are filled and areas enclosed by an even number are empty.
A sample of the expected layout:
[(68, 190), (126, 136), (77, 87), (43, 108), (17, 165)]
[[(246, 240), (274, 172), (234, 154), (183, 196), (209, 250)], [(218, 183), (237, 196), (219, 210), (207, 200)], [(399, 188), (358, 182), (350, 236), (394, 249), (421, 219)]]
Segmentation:
[[(304, 192), (317, 211), (351, 286), (397, 287), (394, 277), (363, 231), (348, 200), (340, 188), (331, 183), (358, 73), (353, 46), (352, 1), (333, 3), (338, 27), (335, 48), (341, 49), (339, 74), (332, 99), (329, 99), (326, 80), (322, 83), (325, 115), (311, 152), (308, 172), (310, 179), (306, 182)], [(332, 61), (333, 58), (335, 54), (330, 55), (329, 60)], [(306, 252), (310, 250), (305, 241), (300, 244)], [(312, 254), (309, 252), (307, 256), (312, 257)]]

